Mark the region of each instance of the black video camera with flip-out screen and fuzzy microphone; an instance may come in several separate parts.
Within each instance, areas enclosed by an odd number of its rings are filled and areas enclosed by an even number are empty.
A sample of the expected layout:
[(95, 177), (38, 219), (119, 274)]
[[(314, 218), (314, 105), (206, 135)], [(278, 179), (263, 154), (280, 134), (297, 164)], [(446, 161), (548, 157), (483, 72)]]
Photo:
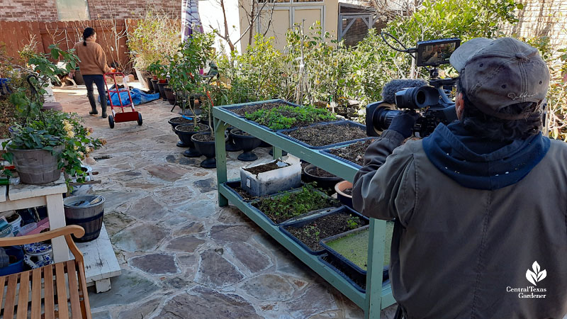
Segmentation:
[[(384, 41), (385, 34), (400, 43), (388, 33), (382, 33)], [(387, 41), (386, 44), (392, 47)], [(395, 79), (388, 82), (382, 90), (383, 101), (366, 106), (366, 135), (378, 136), (386, 130), (392, 119), (402, 112), (400, 109), (420, 111), (420, 118), (413, 127), (413, 132), (420, 138), (430, 135), (439, 123), (448, 124), (456, 120), (455, 103), (447, 96), (456, 79), (437, 79), (437, 67), (449, 64), (449, 57), (460, 44), (458, 38), (450, 38), (420, 41), (417, 47), (405, 50), (392, 47), (412, 55), (418, 67), (432, 67), (429, 70), (431, 79), (429, 83), (421, 79)], [(417, 53), (417, 57), (413, 53)]]

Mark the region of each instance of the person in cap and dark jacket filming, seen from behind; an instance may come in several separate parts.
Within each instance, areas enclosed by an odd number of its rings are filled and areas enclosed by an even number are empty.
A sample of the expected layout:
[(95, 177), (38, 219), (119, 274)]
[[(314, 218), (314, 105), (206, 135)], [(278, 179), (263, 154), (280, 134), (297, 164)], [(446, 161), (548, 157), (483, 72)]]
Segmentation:
[(450, 62), (459, 121), (402, 145), (419, 116), (393, 118), (354, 177), (354, 208), (395, 218), (404, 318), (561, 319), (567, 143), (541, 134), (549, 70), (513, 38), (469, 40)]

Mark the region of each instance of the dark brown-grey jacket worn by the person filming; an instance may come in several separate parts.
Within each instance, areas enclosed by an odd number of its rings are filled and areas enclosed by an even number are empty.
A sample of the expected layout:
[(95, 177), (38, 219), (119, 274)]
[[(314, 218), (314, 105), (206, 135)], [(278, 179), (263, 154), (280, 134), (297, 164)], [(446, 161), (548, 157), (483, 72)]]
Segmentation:
[(551, 140), (525, 177), (490, 190), (444, 174), (423, 140), (402, 142), (386, 130), (370, 145), (352, 195), (365, 216), (396, 219), (390, 278), (406, 318), (563, 318), (567, 143)]

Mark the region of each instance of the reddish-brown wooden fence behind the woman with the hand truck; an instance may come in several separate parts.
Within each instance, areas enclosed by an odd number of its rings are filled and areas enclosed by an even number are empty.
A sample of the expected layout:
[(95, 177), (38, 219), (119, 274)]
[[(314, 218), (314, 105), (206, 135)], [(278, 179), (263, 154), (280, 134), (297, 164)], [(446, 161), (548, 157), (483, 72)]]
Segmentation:
[(34, 44), (38, 52), (48, 53), (48, 47), (54, 43), (63, 50), (68, 50), (80, 40), (83, 30), (91, 27), (96, 30), (96, 42), (106, 53), (110, 65), (115, 62), (119, 70), (129, 72), (132, 69), (128, 54), (129, 30), (133, 30), (137, 20), (89, 20), (89, 21), (0, 21), (0, 45), (5, 54), (19, 60), (18, 51), (24, 46)]

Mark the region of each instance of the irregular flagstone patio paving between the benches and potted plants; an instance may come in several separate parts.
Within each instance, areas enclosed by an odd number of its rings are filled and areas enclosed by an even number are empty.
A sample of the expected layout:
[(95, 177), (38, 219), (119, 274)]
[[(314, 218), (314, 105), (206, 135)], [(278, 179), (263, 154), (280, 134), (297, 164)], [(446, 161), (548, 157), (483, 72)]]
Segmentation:
[[(55, 92), (64, 111), (79, 113), (108, 141), (92, 154), (99, 160), (89, 160), (122, 275), (110, 291), (89, 293), (94, 318), (364, 318), (237, 208), (217, 206), (215, 170), (198, 167), (204, 157), (181, 155), (169, 103), (139, 106), (142, 126), (111, 130), (89, 116), (84, 86)], [(260, 159), (268, 151), (256, 150)], [(229, 179), (244, 164), (237, 155), (228, 153)]]

